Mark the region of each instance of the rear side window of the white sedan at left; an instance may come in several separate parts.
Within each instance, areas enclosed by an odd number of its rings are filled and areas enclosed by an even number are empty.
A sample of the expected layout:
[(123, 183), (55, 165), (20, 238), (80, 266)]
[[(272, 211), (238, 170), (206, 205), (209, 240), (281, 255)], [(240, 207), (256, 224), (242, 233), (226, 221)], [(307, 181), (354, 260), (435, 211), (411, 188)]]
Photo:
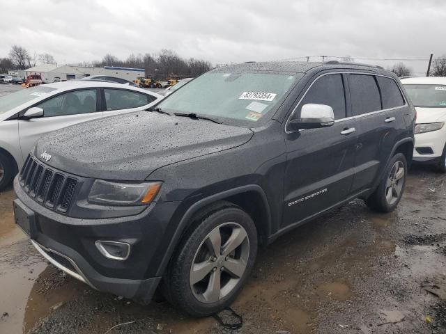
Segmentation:
[(155, 100), (151, 95), (133, 92), (132, 90), (104, 88), (104, 94), (107, 111), (137, 108)]

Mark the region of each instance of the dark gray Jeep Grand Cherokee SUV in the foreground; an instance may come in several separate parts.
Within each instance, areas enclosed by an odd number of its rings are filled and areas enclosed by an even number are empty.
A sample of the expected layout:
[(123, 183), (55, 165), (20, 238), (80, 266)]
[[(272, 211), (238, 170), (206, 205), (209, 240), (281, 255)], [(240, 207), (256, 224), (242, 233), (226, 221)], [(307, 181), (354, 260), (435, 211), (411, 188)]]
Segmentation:
[(15, 220), (91, 287), (141, 302), (159, 287), (210, 315), (235, 299), (260, 244), (353, 198), (392, 211), (414, 124), (380, 67), (222, 67), (151, 110), (41, 138), (14, 182)]

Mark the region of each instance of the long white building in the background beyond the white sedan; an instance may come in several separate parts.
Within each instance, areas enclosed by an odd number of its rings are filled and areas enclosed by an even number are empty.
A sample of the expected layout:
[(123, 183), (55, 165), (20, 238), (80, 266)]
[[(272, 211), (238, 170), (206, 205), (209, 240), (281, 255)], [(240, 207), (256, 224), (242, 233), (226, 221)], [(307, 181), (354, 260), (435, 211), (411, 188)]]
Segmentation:
[(42, 77), (42, 81), (45, 83), (54, 81), (65, 81), (72, 79), (82, 79), (83, 77), (89, 77), (90, 75), (107, 75), (109, 77), (118, 77), (133, 81), (138, 77), (145, 77), (146, 72), (144, 68), (129, 68), (129, 67), (84, 67), (84, 66), (71, 66), (56, 64), (43, 64), (35, 67), (31, 67), (24, 71), (24, 76), (27, 77), (31, 74), (39, 74)]

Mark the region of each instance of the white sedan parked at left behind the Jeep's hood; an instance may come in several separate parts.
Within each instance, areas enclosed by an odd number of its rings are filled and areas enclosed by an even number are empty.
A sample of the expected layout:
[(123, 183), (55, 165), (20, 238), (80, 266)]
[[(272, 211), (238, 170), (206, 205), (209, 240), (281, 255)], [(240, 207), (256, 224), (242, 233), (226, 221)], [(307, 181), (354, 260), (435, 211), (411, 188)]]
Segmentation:
[(43, 134), (143, 110), (161, 98), (140, 88), (99, 81), (46, 84), (0, 97), (0, 190), (10, 184)]

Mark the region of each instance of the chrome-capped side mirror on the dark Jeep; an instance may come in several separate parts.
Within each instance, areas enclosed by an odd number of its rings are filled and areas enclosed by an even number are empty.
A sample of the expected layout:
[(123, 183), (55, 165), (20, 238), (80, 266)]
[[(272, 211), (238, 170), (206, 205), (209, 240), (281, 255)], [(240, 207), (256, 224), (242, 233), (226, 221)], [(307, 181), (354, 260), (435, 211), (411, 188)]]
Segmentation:
[(291, 131), (300, 129), (318, 129), (334, 125), (334, 112), (331, 106), (325, 104), (304, 104), (300, 110), (300, 118), (290, 120), (288, 128)]

